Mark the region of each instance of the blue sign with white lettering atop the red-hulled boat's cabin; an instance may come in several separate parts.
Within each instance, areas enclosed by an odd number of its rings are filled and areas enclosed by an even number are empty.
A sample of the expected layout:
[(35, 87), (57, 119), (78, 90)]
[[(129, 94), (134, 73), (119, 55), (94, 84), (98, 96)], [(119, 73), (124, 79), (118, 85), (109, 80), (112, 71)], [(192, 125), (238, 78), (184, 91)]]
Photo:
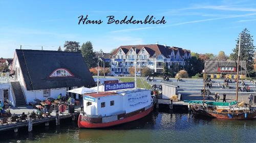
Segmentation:
[(122, 82), (122, 83), (110, 83), (105, 84), (105, 91), (133, 89), (135, 87), (134, 82)]

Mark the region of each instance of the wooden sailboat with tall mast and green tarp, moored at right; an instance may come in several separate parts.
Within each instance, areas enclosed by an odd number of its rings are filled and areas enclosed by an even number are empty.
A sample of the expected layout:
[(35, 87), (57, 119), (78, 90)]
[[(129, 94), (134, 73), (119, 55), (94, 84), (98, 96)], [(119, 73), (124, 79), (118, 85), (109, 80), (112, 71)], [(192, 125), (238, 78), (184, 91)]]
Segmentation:
[[(205, 92), (203, 94), (203, 101), (184, 101), (191, 103), (191, 109), (194, 115), (202, 117), (219, 118), (219, 119), (233, 119), (233, 120), (249, 120), (256, 119), (256, 108), (247, 107), (244, 102), (238, 103), (238, 84), (239, 84), (239, 60), (240, 60), (240, 42), (241, 34), (239, 38), (239, 52), (238, 52), (238, 64), (237, 64), (237, 90), (236, 101), (233, 102), (208, 102), (204, 101)], [(205, 72), (204, 72), (204, 89), (205, 89)], [(205, 90), (204, 90), (205, 91)]]

